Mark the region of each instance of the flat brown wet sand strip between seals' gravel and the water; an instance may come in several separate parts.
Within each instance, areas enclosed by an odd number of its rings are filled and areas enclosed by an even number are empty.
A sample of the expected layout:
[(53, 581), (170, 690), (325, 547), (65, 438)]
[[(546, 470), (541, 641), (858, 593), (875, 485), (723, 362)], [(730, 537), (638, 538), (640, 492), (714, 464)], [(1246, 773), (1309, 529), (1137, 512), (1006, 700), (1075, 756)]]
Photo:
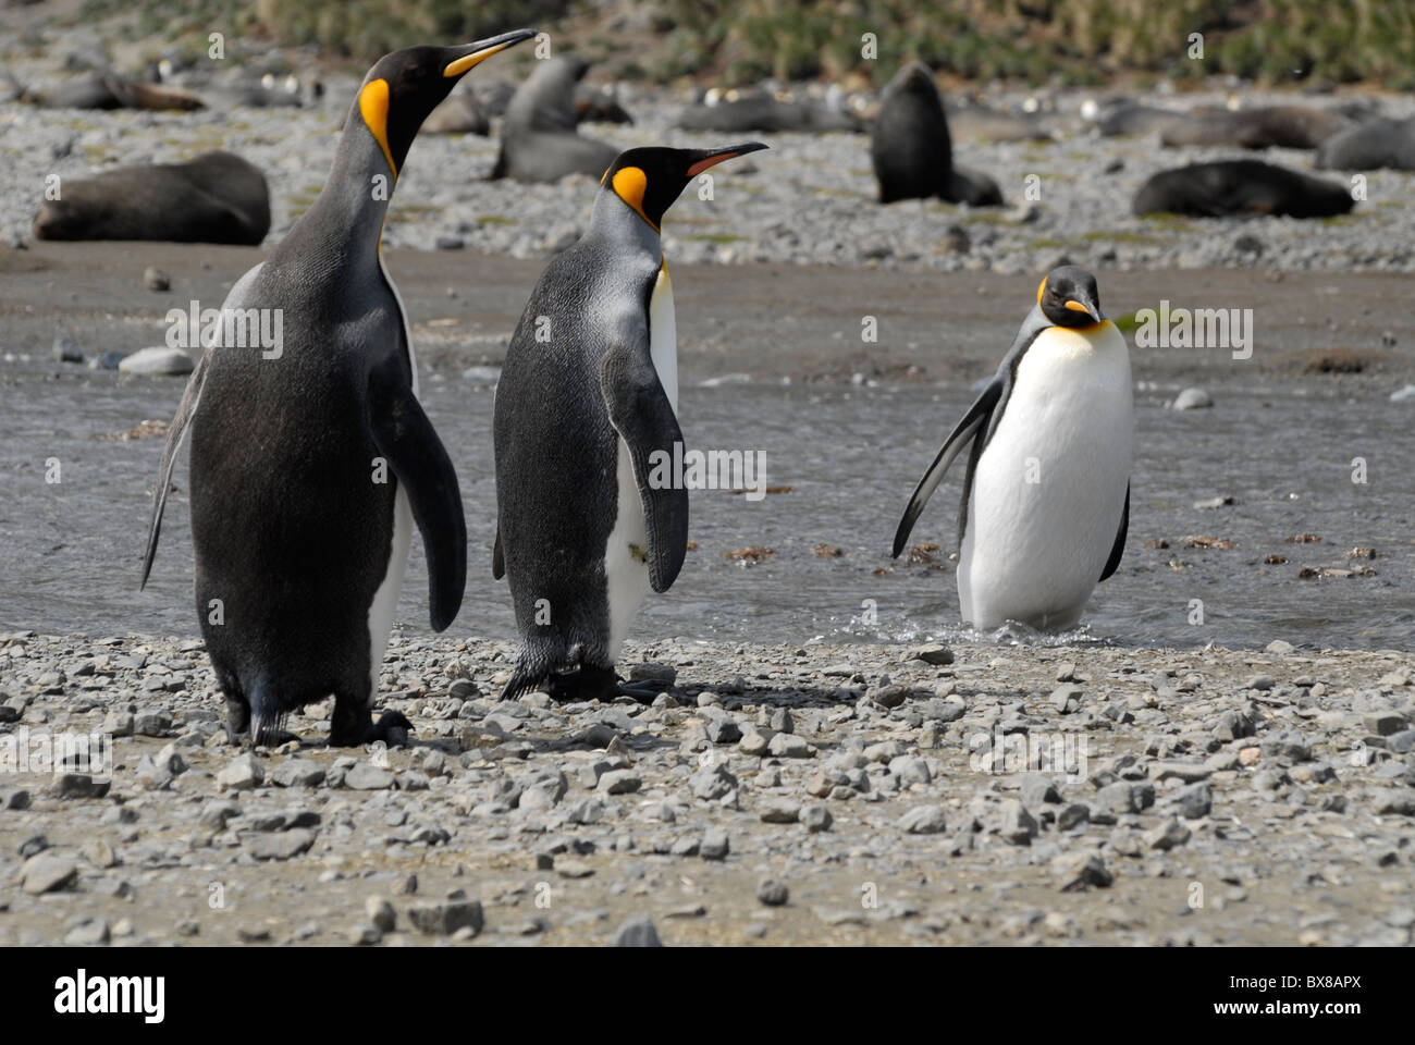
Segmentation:
[[(47, 244), (0, 253), (0, 351), (48, 362), (58, 333), (88, 354), (161, 344), (163, 317), (192, 299), (219, 307), (258, 263), (258, 248), (183, 244)], [(672, 266), (672, 258), (668, 259)], [(154, 265), (171, 290), (143, 287)], [(499, 364), (543, 262), (463, 251), (389, 251), (388, 268), (427, 367)], [(884, 272), (790, 265), (672, 266), (685, 382), (724, 374), (848, 381), (974, 379), (1006, 351), (1043, 273)], [(1097, 273), (1111, 316), (1157, 309), (1252, 309), (1251, 360), (1225, 347), (1136, 353), (1139, 381), (1323, 377), (1392, 391), (1415, 379), (1409, 279), (1398, 273), (1214, 269)], [(456, 292), (456, 297), (449, 292)], [(879, 341), (860, 340), (865, 316)], [(1394, 336), (1394, 344), (1390, 337)], [(1324, 371), (1323, 371), (1324, 367)], [(3, 375), (4, 371), (0, 371)], [(3, 377), (0, 377), (3, 379)]]

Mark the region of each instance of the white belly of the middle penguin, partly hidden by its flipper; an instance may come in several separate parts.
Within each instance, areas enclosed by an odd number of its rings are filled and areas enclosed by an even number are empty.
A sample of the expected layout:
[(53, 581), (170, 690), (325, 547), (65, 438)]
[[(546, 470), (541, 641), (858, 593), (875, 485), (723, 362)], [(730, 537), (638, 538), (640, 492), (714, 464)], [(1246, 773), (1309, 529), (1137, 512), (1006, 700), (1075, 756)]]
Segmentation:
[[(658, 371), (658, 381), (668, 394), (668, 402), (678, 413), (678, 327), (674, 316), (674, 285), (668, 268), (658, 270), (654, 293), (648, 302), (648, 354)], [(648, 527), (644, 521), (644, 500), (634, 479), (634, 462), (628, 443), (618, 439), (618, 463), (614, 470), (618, 487), (614, 528), (604, 542), (604, 586), (608, 596), (608, 656), (618, 660), (620, 647), (652, 589), (648, 581)]]

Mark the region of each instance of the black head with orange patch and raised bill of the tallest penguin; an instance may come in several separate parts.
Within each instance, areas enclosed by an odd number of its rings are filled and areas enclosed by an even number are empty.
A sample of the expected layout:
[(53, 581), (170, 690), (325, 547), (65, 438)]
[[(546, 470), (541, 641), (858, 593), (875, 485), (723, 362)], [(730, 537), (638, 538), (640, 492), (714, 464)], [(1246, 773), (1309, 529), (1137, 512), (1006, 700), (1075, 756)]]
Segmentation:
[(358, 110), (396, 176), (417, 129), (463, 75), (535, 30), (515, 30), (461, 47), (405, 47), (379, 58), (364, 78)]

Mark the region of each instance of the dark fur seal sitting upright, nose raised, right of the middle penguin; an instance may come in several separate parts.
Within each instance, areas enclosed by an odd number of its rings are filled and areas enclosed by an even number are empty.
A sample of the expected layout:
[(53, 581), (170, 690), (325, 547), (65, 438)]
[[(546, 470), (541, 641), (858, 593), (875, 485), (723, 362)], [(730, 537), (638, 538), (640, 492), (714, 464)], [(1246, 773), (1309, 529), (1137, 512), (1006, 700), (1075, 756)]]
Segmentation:
[(920, 62), (894, 74), (870, 136), (880, 202), (937, 195), (971, 207), (1000, 207), (1002, 191), (986, 174), (954, 166), (948, 119), (934, 76)]

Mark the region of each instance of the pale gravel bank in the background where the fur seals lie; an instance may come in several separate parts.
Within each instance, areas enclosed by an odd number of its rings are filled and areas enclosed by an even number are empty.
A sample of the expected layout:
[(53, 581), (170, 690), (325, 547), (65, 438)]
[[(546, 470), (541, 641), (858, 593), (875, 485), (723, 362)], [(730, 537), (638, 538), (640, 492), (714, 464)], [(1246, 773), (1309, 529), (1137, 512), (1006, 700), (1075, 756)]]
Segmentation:
[[(13, 69), (21, 79), (52, 69)], [(490, 76), (485, 84), (490, 84)], [(481, 79), (473, 86), (485, 86)], [(194, 113), (45, 110), (0, 105), (0, 244), (25, 242), (45, 177), (91, 176), (120, 163), (188, 160), (222, 147), (255, 163), (270, 184), (277, 242), (323, 187), (337, 129), (357, 89), (331, 76), (318, 108)], [(937, 200), (876, 202), (867, 135), (764, 135), (771, 150), (727, 164), (712, 200), (685, 193), (664, 227), (668, 258), (678, 263), (768, 262), (880, 266), (886, 269), (1044, 272), (1061, 256), (1094, 269), (1262, 266), (1307, 270), (1415, 269), (1415, 212), (1404, 202), (1415, 174), (1373, 171), (1365, 201), (1353, 214), (1322, 222), (1295, 218), (1136, 218), (1129, 202), (1149, 176), (1196, 160), (1231, 159), (1242, 150), (1160, 149), (1156, 136), (1097, 137), (1080, 118), (1088, 91), (1047, 99), (1054, 140), (986, 143), (955, 135), (955, 159), (992, 176), (1005, 208), (971, 211)], [(1227, 92), (1186, 95), (1183, 105), (1224, 105)], [(634, 125), (593, 125), (591, 136), (620, 147), (722, 144), (720, 136), (674, 129), (686, 93), (627, 86)], [(1023, 95), (986, 92), (993, 108), (1016, 108)], [(1139, 95), (1142, 103), (1176, 99)], [(1245, 105), (1336, 105), (1346, 99), (1248, 92)], [(1398, 95), (1373, 96), (1391, 116), (1415, 112)], [(740, 137), (740, 136), (739, 136)], [(484, 181), (498, 143), (473, 135), (417, 139), (383, 229), (383, 245), (467, 249), (539, 258), (574, 242), (596, 193), (593, 178), (555, 184)], [(1312, 170), (1312, 153), (1272, 149), (1271, 163)], [(1324, 177), (1341, 180), (1340, 171)], [(1032, 178), (1032, 181), (1029, 181)], [(1024, 198), (1029, 187), (1032, 195)], [(164, 275), (164, 273), (157, 273)], [(160, 285), (160, 280), (157, 280)], [(173, 364), (180, 361), (173, 360)], [(171, 365), (171, 364), (168, 364)], [(647, 675), (658, 681), (654, 675)]]

